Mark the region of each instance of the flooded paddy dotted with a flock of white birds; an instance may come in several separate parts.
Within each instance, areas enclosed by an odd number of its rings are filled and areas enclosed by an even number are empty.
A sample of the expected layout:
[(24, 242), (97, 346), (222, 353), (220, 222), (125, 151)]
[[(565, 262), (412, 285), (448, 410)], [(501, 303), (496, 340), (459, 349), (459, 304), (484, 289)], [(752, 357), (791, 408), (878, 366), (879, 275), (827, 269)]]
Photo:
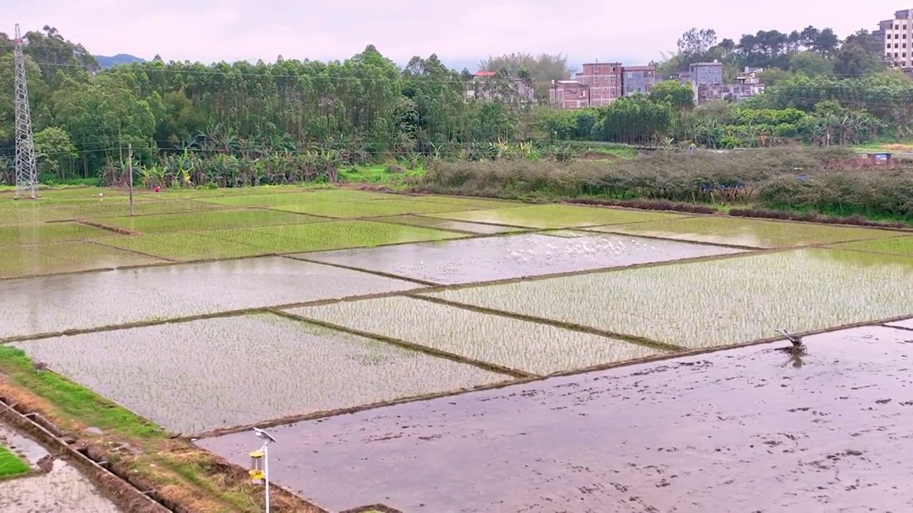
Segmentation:
[(431, 283), (456, 285), (739, 252), (739, 249), (728, 247), (630, 236), (550, 237), (521, 234), (347, 249), (312, 253), (305, 257)]

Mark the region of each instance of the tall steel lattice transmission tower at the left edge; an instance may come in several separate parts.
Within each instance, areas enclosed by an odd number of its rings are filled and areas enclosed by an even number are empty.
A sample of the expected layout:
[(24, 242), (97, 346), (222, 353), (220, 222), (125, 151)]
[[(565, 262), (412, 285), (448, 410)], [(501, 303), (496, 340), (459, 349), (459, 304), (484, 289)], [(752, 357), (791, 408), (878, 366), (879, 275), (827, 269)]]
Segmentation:
[(16, 199), (37, 198), (38, 175), (35, 168), (35, 141), (32, 138), (32, 115), (28, 108), (26, 54), (22, 34), (16, 24)]

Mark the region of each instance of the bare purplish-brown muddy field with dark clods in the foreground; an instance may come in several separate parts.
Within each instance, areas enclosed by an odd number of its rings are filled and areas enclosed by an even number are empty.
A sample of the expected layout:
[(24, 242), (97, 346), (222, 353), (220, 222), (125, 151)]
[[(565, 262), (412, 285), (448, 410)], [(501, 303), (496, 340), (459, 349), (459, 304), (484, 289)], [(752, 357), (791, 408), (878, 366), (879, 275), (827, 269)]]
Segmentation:
[[(270, 470), (333, 510), (913, 509), (913, 332), (805, 342), (801, 359), (778, 342), (274, 428)], [(199, 444), (247, 465), (257, 439)]]

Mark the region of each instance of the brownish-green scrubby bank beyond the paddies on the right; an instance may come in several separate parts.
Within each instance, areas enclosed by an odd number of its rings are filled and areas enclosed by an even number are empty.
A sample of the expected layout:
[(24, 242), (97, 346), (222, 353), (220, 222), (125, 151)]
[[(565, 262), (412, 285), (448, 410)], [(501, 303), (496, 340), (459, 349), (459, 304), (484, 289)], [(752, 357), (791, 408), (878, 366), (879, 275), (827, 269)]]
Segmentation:
[(604, 162), (437, 162), (415, 192), (913, 225), (913, 164), (858, 168), (845, 149), (655, 152)]

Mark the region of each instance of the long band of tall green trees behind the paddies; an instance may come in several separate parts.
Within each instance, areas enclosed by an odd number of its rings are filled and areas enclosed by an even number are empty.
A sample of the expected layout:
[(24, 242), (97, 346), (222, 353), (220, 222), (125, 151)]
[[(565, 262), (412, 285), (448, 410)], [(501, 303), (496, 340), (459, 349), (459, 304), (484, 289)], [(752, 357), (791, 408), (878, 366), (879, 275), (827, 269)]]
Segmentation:
[[(833, 32), (826, 30), (799, 34), (795, 41), (787, 37), (778, 52), (794, 50), (791, 59), (813, 52), (831, 62), (847, 45), (832, 44)], [(753, 46), (743, 37), (732, 55), (769, 56), (770, 45), (782, 39), (775, 36), (761, 42), (756, 37)], [(678, 62), (720, 51), (714, 37), (708, 31), (687, 34)], [(150, 183), (165, 176), (181, 183), (282, 183), (333, 179), (345, 163), (473, 160), (524, 141), (675, 141), (712, 148), (798, 140), (852, 144), (884, 134), (906, 137), (913, 114), (913, 82), (889, 71), (858, 78), (797, 73), (738, 106), (695, 107), (689, 87), (667, 81), (648, 95), (608, 107), (561, 111), (525, 101), (518, 84), (565, 78), (570, 68), (563, 56), (488, 58), (479, 68), (495, 75), (478, 81), (434, 55), (399, 68), (373, 46), (329, 63), (280, 57), (272, 64), (204, 65), (154, 58), (100, 69), (85, 47), (53, 27), (28, 32), (26, 40), (36, 152), (45, 180), (102, 177), (110, 183), (122, 174), (128, 148)], [(5, 183), (14, 180), (13, 46), (0, 33)]]

